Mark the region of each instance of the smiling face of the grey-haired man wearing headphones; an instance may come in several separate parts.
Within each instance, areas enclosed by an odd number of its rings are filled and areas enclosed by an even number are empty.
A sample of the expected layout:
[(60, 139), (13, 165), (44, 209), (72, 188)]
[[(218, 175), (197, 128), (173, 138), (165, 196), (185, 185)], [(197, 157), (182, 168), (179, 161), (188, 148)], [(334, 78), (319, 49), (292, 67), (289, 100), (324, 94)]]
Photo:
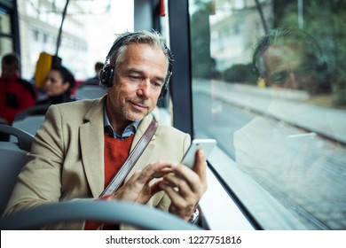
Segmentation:
[(111, 122), (118, 125), (142, 120), (153, 111), (168, 67), (163, 51), (148, 44), (130, 44), (120, 61), (106, 102)]

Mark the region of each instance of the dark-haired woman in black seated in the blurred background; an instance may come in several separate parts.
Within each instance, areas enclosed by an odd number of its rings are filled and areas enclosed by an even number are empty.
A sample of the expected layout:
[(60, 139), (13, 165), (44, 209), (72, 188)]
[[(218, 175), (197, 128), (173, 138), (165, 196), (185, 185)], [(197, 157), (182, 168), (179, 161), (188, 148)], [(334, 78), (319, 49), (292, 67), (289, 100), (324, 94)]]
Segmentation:
[[(45, 98), (36, 105), (58, 105), (75, 101), (72, 89), (75, 87), (75, 76), (64, 66), (52, 66), (44, 82)], [(35, 112), (34, 114), (43, 114)]]

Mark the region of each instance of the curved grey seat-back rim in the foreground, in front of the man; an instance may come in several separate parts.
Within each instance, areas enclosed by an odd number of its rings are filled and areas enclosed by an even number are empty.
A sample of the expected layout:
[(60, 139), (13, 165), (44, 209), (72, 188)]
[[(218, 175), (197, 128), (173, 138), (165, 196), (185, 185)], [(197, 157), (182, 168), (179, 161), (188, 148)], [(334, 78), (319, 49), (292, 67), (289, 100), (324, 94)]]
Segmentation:
[(107, 221), (141, 229), (201, 230), (197, 225), (148, 205), (125, 201), (71, 201), (38, 205), (0, 220), (0, 229), (36, 229), (60, 221)]

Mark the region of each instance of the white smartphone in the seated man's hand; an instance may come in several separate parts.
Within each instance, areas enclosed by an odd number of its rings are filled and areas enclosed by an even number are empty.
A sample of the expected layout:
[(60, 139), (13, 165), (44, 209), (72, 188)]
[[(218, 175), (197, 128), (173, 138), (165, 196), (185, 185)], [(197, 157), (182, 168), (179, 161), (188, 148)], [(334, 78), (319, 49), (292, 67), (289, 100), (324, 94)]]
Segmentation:
[(194, 139), (180, 164), (193, 168), (196, 151), (201, 148), (204, 151), (204, 157), (208, 159), (215, 146), (215, 139)]

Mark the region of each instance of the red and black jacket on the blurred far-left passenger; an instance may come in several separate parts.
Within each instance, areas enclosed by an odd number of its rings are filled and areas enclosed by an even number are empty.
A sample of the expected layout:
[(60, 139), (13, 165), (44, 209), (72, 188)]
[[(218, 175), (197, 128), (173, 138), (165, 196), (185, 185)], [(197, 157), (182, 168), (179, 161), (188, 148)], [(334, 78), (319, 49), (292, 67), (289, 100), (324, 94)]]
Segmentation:
[(35, 100), (35, 88), (28, 81), (17, 76), (9, 81), (0, 78), (0, 117), (8, 124), (12, 125), (18, 112), (34, 106)]

